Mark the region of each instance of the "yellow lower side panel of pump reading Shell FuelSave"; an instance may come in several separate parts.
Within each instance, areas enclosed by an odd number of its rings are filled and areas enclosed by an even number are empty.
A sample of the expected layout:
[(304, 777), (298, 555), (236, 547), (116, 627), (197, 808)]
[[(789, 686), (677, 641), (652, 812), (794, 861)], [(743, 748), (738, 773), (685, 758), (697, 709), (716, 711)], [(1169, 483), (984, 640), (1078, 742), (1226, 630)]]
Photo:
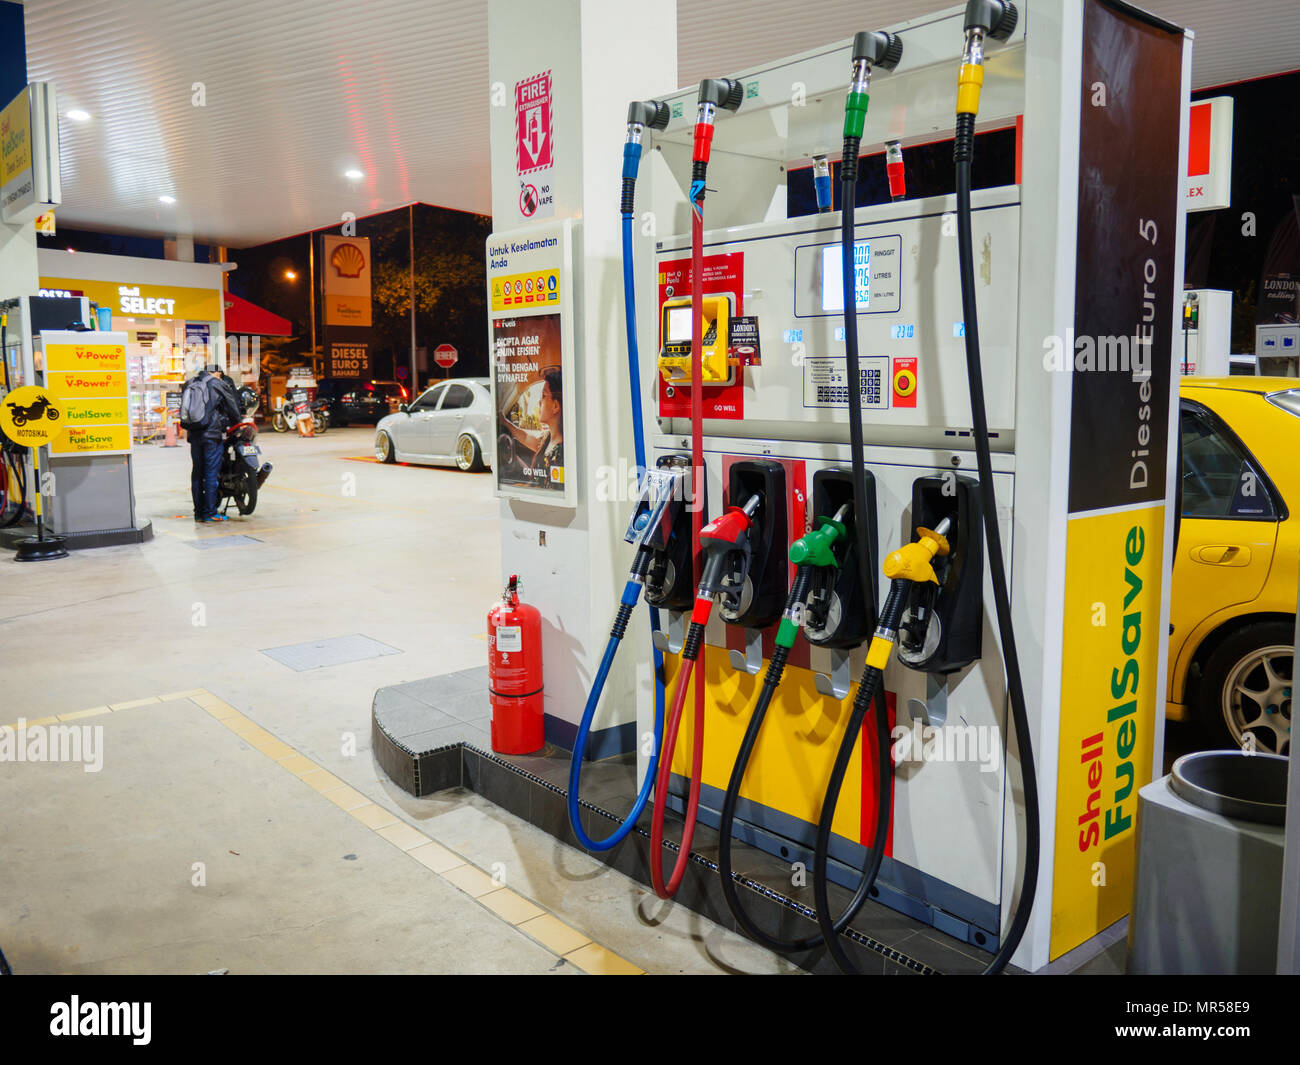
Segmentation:
[(1132, 901), (1138, 791), (1152, 779), (1164, 537), (1162, 503), (1069, 523), (1052, 958)]

